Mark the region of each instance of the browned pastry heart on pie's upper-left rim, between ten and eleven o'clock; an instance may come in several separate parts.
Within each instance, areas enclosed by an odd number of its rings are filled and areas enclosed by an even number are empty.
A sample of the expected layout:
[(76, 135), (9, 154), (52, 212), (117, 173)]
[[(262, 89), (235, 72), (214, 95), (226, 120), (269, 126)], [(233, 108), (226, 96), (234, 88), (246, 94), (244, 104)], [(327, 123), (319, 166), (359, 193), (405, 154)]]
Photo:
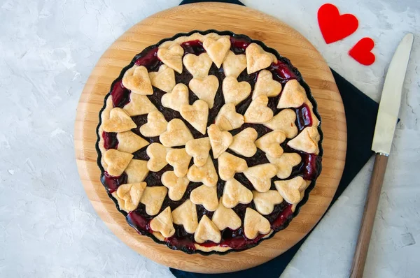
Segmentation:
[(151, 79), (147, 68), (134, 65), (124, 73), (123, 85), (134, 94), (153, 94)]

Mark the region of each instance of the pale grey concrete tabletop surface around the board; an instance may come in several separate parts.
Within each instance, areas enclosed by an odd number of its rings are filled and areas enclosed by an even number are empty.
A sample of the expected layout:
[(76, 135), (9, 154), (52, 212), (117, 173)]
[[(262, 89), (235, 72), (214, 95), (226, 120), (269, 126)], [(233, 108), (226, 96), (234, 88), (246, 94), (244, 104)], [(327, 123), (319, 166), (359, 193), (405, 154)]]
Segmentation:
[[(309, 38), (328, 64), (378, 101), (395, 47), (416, 36), (366, 277), (419, 277), (420, 2), (335, 0), (360, 27), (326, 45), (325, 0), (251, 1)], [(179, 0), (0, 0), (0, 277), (167, 277), (106, 228), (85, 196), (73, 154), (83, 85), (100, 55), (136, 22)], [(377, 61), (348, 50), (370, 36)], [(281, 50), (279, 50), (281, 52)], [(348, 277), (372, 161), (304, 243), (283, 277)]]

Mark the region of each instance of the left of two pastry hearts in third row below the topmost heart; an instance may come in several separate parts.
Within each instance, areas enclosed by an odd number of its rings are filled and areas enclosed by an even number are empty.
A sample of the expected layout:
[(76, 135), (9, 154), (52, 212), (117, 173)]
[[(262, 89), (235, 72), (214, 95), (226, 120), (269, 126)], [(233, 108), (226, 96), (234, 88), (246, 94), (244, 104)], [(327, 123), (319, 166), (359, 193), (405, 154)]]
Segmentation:
[(209, 108), (213, 108), (214, 96), (218, 89), (218, 79), (214, 75), (208, 75), (205, 78), (193, 78), (188, 83), (191, 91), (202, 101), (207, 102)]

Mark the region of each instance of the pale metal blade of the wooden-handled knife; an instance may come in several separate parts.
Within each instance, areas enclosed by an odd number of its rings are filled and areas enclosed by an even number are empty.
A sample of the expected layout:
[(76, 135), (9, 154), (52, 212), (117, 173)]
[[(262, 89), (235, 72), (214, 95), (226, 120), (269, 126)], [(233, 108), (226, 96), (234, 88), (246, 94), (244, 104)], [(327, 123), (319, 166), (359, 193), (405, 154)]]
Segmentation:
[(402, 38), (389, 65), (384, 89), (382, 89), (377, 122), (374, 127), (372, 150), (385, 156), (388, 156), (391, 152), (398, 112), (400, 111), (402, 84), (404, 83), (413, 41), (413, 34), (407, 34)]

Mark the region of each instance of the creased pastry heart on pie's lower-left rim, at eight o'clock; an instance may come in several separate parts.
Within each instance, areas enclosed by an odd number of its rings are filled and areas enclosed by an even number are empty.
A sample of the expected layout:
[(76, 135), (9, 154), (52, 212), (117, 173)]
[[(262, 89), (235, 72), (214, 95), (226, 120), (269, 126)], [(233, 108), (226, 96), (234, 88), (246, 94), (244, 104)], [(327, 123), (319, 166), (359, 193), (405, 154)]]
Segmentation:
[(123, 200), (123, 202), (118, 202), (120, 210), (131, 212), (132, 210), (137, 209), (137, 206), (140, 203), (141, 195), (143, 194), (145, 188), (146, 182), (122, 184), (118, 186), (116, 196), (118, 196), (120, 200)]

